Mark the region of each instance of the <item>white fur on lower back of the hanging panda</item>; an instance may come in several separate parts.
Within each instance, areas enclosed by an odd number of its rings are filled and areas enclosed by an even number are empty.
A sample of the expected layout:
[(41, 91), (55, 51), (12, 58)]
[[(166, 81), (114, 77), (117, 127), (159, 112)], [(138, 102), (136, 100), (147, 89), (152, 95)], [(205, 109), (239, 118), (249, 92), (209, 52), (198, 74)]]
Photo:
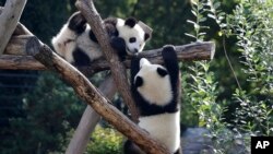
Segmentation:
[(140, 117), (139, 126), (165, 144), (171, 153), (180, 146), (180, 111)]

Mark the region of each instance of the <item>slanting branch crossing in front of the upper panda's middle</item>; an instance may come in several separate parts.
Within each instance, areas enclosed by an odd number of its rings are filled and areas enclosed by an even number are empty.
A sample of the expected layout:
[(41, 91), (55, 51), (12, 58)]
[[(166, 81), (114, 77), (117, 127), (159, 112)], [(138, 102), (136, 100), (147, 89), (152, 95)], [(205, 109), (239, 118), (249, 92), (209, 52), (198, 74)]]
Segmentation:
[(109, 43), (109, 37), (107, 35), (106, 28), (103, 24), (103, 20), (96, 11), (93, 0), (78, 0), (75, 3), (76, 8), (86, 19), (87, 23), (92, 27), (99, 46), (104, 52), (105, 59), (110, 64), (111, 74), (116, 83), (117, 90), (123, 98), (123, 103), (128, 106), (131, 118), (134, 122), (138, 121), (138, 109), (133, 103), (129, 83), (127, 82), (127, 73), (124, 66), (119, 61), (119, 57), (116, 50), (112, 49)]

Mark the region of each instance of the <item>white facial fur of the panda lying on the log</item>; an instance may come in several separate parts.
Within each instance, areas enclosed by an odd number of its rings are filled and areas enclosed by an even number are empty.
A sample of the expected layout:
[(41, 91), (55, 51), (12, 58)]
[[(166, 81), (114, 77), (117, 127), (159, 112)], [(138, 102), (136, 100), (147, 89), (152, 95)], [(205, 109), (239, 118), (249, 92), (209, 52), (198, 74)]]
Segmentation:
[[(127, 46), (128, 55), (135, 54), (134, 50), (136, 49), (138, 52), (141, 52), (145, 46), (144, 34), (145, 32), (143, 28), (135, 24), (133, 27), (124, 26), (124, 21), (121, 19), (117, 19), (117, 29), (119, 32), (119, 37), (123, 38)], [(135, 37), (136, 42), (130, 43), (130, 37)]]

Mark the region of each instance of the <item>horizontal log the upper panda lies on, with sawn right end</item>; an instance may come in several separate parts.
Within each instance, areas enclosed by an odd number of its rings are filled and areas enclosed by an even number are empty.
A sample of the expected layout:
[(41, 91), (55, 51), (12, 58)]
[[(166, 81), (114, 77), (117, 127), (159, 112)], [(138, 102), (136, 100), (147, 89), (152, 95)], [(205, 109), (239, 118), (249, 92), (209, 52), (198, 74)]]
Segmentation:
[[(28, 56), (14, 56), (25, 55), (25, 45), (27, 39), (32, 36), (15, 36), (12, 37), (9, 45), (7, 46), (5, 54), (0, 56), (0, 69), (13, 69), (13, 70), (45, 70), (46, 68)], [(205, 43), (193, 43), (183, 46), (176, 46), (178, 59), (180, 61), (192, 61), (192, 60), (211, 60), (214, 56), (214, 44), (210, 42)], [(163, 63), (161, 56), (162, 48), (146, 50), (140, 54), (141, 57), (147, 58), (153, 63)], [(130, 59), (128, 58), (124, 62), (126, 68), (130, 68)], [(109, 70), (109, 64), (106, 60), (97, 60), (90, 67), (79, 68), (84, 74), (92, 75), (99, 71)]]

